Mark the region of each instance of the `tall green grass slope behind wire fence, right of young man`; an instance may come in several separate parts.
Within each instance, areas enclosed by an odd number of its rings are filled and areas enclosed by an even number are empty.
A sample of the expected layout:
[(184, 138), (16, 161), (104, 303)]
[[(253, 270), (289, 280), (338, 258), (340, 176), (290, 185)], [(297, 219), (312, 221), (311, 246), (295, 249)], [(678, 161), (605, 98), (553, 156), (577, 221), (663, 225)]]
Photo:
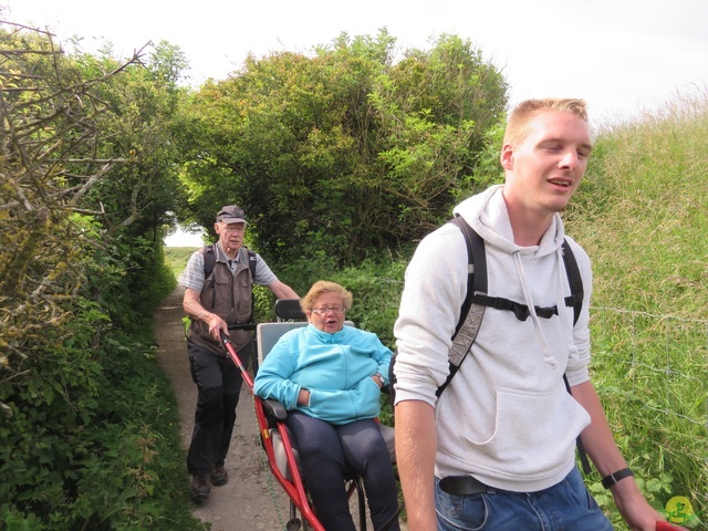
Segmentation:
[(655, 507), (684, 496), (696, 513), (708, 509), (707, 138), (706, 92), (601, 131), (566, 212), (593, 261), (593, 379), (611, 424)]

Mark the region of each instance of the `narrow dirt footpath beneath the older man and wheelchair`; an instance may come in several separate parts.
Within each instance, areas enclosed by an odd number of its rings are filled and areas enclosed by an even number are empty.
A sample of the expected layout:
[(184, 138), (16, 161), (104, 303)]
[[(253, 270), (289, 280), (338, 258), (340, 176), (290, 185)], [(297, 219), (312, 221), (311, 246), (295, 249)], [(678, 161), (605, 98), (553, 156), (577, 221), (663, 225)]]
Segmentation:
[[(183, 288), (167, 296), (154, 316), (157, 358), (169, 375), (181, 418), (181, 440), (189, 446), (194, 426), (197, 387), (189, 374), (187, 344), (181, 317)], [(206, 503), (194, 513), (211, 523), (212, 531), (274, 531), (284, 529), (289, 518), (288, 497), (275, 481), (260, 447), (253, 400), (243, 385), (237, 408), (236, 428), (226, 461), (229, 482), (212, 487)], [(191, 478), (185, 465), (185, 491)]]

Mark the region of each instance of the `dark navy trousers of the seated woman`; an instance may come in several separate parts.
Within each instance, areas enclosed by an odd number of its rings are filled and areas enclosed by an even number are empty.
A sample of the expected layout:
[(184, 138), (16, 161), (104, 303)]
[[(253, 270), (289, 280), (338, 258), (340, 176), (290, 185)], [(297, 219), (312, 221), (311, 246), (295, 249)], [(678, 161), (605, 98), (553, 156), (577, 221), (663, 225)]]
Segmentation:
[[(374, 530), (396, 513), (396, 478), (375, 420), (332, 426), (304, 413), (290, 412), (285, 423), (298, 446), (308, 490), (324, 529), (355, 530), (344, 488), (346, 470), (364, 479)], [(398, 522), (388, 529), (398, 531)]]

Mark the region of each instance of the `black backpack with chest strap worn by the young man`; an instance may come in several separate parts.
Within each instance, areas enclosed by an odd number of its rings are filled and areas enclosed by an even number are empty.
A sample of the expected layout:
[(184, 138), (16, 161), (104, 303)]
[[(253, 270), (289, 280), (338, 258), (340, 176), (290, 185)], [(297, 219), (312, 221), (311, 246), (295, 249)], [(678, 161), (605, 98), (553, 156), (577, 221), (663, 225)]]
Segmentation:
[[(498, 310), (508, 310), (514, 313), (518, 320), (525, 321), (529, 317), (529, 308), (525, 304), (521, 304), (509, 299), (500, 296), (489, 296), (487, 294), (487, 256), (485, 251), (485, 240), (472, 229), (461, 216), (455, 216), (450, 223), (457, 226), (465, 237), (465, 243), (467, 244), (467, 258), (468, 258), (468, 275), (467, 275), (467, 295), (460, 308), (460, 319), (455, 326), (455, 333), (452, 334), (452, 346), (449, 353), (450, 372), (447, 379), (436, 391), (436, 396), (439, 398), (445, 388), (450, 384), (450, 381), (455, 377), (455, 374), (459, 369), (462, 361), (470, 352), (472, 343), (477, 337), (477, 333), (482, 323), (485, 309), (488, 306), (496, 308)], [(573, 324), (577, 322), (580, 312), (583, 305), (583, 279), (577, 268), (577, 261), (575, 256), (568, 243), (568, 240), (563, 240), (563, 263), (565, 264), (565, 273), (568, 274), (568, 282), (571, 289), (571, 294), (565, 298), (565, 305), (573, 308)], [(540, 317), (549, 319), (552, 315), (558, 315), (558, 308), (555, 305), (550, 308), (534, 306), (537, 315)], [(465, 330), (465, 334), (460, 335), (465, 323), (469, 321), (470, 326)], [(389, 394), (392, 403), (395, 399), (396, 376), (394, 374), (394, 364), (396, 355), (394, 354), (391, 360), (389, 366)], [(571, 393), (571, 387), (568, 382), (568, 377), (563, 375), (563, 382), (565, 383), (565, 389)], [(577, 450), (583, 470), (585, 473), (590, 472), (590, 461), (583, 449), (583, 442), (577, 436)]]

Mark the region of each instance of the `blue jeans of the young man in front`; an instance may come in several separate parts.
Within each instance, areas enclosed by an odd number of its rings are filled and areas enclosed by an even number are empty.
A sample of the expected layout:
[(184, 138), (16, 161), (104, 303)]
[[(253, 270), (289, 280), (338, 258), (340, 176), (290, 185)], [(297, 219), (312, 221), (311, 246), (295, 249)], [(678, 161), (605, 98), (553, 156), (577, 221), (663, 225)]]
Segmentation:
[(612, 531), (577, 468), (538, 492), (454, 496), (435, 479), (438, 531)]

